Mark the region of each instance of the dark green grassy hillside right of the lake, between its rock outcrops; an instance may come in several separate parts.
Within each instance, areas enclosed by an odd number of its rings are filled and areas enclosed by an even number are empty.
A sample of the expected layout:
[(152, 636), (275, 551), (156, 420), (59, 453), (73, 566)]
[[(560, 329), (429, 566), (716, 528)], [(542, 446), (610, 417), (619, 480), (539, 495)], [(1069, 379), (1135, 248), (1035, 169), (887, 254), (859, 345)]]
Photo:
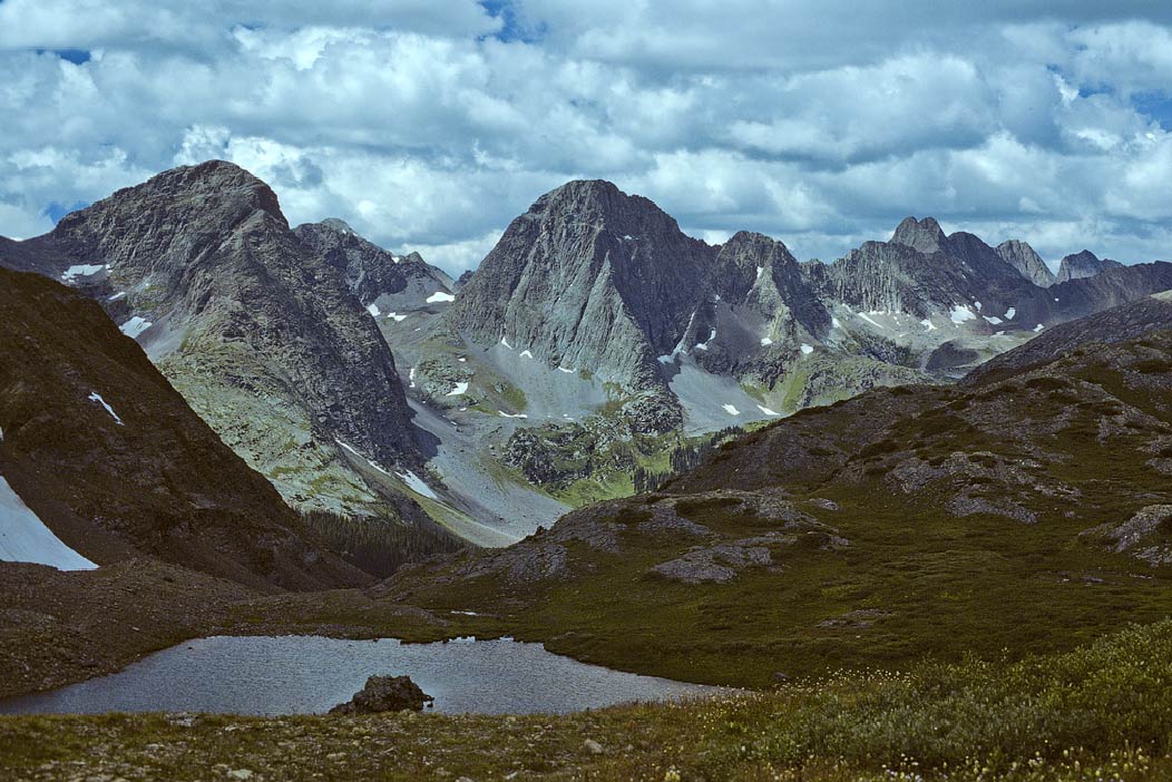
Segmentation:
[[(1158, 387), (1161, 376), (1137, 370), (1153, 366), (1151, 354), (1170, 352), (1172, 336), (1165, 336), (1063, 359), (994, 387), (879, 392), (870, 397), (879, 401), (868, 403), (900, 406), (906, 395), (908, 409), (919, 412), (897, 415), (860, 441), (871, 446), (849, 441), (851, 430), (865, 426), (850, 414), (859, 406), (826, 408), (743, 438), (693, 478), (751, 490), (781, 484), (796, 506), (851, 542), (843, 550), (798, 536), (774, 548), (772, 567), (743, 570), (727, 584), (669, 582), (649, 569), (702, 542), (640, 533), (643, 504), (665, 498), (650, 495), (592, 511), (618, 530), (618, 551), (541, 536), (522, 544), (533, 551), (551, 540), (564, 545), (570, 571), (560, 577), (517, 584), (505, 572), (482, 571), (465, 579), (456, 563), (437, 566), (434, 582), (416, 574), (391, 593), (437, 612), (493, 614), (475, 627), (481, 634), (509, 632), (582, 660), (714, 684), (759, 687), (777, 673), (1071, 648), (1131, 621), (1161, 619), (1172, 606), (1172, 569), (1081, 536), (1170, 499), (1167, 477), (1145, 449), (1172, 433), (1172, 394)], [(1054, 378), (1065, 389), (1056, 389)], [(847, 438), (850, 455), (826, 471), (830, 477), (771, 464), (770, 451), (752, 451), (755, 442), (806, 433)], [(993, 463), (1023, 471), (1031, 484), (986, 471), (946, 476), (905, 494), (888, 480), (909, 461), (940, 465), (949, 458), (974, 469)], [(1077, 498), (1043, 491), (1062, 485), (1075, 488)], [(1037, 521), (956, 517), (946, 505), (958, 488), (1015, 498)], [(812, 498), (833, 501), (839, 510), (824, 510)], [(721, 542), (777, 526), (718, 502), (694, 503), (684, 515)], [(570, 529), (573, 519), (559, 528)], [(445, 583), (451, 574), (457, 578)]]

